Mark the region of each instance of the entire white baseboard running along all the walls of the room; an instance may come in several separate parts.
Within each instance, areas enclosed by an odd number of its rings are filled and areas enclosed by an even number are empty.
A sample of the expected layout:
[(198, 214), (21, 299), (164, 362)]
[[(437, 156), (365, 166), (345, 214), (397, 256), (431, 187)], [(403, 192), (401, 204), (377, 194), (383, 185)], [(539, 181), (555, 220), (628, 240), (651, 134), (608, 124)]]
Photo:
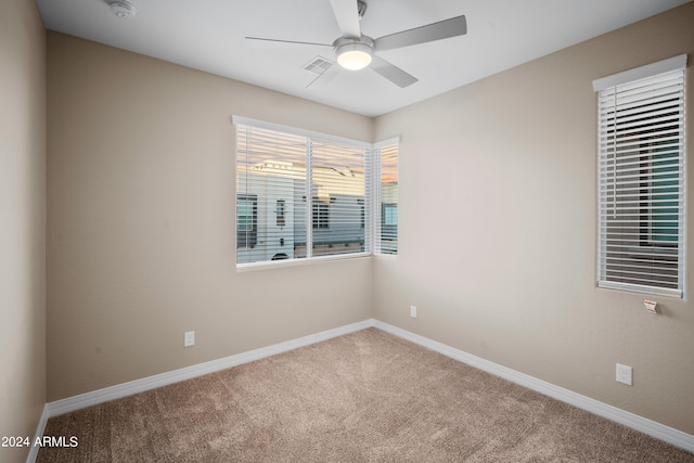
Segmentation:
[[(344, 334), (354, 333), (371, 326), (377, 327), (387, 333), (394, 334), (398, 337), (419, 344), (436, 352), (442, 353), (454, 360), (486, 371), (487, 373), (503, 377), (504, 380), (509, 380), (520, 386), (527, 387), (528, 389), (532, 389), (553, 399), (569, 403), (574, 407), (578, 407), (579, 409), (622, 424), (632, 429), (655, 437), (656, 439), (660, 439), (665, 442), (671, 443), (678, 448), (694, 453), (694, 436), (690, 434), (635, 415), (631, 412), (618, 409), (616, 407), (608, 406), (607, 403), (600, 402), (589, 397), (581, 396), (580, 394), (574, 393), (563, 387), (555, 386), (525, 373), (520, 373), (498, 363), (490, 362), (480, 357), (467, 353), (463, 350), (455, 349), (427, 337), (420, 336), (419, 334), (411, 333), (409, 331), (374, 319), (363, 320), (358, 323), (323, 331), (321, 333), (299, 337), (297, 339), (287, 340), (285, 343), (275, 344), (260, 349), (249, 350), (247, 352), (242, 352), (235, 356), (230, 356), (222, 359), (188, 366), (184, 369), (149, 376), (142, 380), (136, 380), (129, 383), (124, 383), (91, 393), (81, 394), (79, 396), (68, 397), (63, 400), (49, 402), (43, 409), (43, 414), (41, 415), (41, 421), (39, 422), (39, 426), (37, 429), (37, 436), (43, 435), (46, 422), (49, 417), (52, 416), (68, 413), (99, 403), (104, 403), (133, 394), (143, 393), (145, 390), (155, 389), (157, 387), (166, 386), (179, 381), (190, 380), (193, 377), (202, 376), (204, 374), (214, 373), (266, 357), (275, 356), (278, 353), (320, 343), (322, 340), (342, 336)], [(33, 448), (31, 453), (29, 454), (29, 459), (27, 460), (28, 463), (34, 462), (34, 460), (36, 459), (36, 453), (38, 453), (38, 449)]]

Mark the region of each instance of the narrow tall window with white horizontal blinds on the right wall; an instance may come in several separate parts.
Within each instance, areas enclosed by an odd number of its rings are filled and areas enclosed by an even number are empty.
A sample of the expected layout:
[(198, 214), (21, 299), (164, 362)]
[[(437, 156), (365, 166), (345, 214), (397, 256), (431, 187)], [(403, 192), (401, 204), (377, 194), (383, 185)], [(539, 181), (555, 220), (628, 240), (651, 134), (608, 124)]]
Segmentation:
[(684, 68), (676, 56), (599, 92), (599, 286), (683, 297)]

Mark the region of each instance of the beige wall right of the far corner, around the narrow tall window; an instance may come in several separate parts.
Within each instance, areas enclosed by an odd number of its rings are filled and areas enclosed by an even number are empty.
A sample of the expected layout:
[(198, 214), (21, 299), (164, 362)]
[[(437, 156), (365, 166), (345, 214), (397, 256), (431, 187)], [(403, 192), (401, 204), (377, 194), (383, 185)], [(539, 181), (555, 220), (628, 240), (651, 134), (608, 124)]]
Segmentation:
[(694, 434), (694, 233), (687, 300), (652, 316), (595, 287), (591, 86), (689, 53), (691, 93), (692, 24), (689, 3), (377, 118), (376, 139), (401, 136), (400, 248), (374, 262), (375, 318)]

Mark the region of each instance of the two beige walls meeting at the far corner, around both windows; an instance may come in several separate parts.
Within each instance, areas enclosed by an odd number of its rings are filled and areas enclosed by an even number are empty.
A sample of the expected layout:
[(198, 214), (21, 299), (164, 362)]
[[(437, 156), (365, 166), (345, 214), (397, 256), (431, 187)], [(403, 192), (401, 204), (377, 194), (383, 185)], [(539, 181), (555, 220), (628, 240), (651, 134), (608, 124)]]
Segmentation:
[[(48, 400), (375, 316), (694, 434), (694, 305), (595, 288), (591, 87), (692, 60), (693, 22), (690, 3), (375, 121), (49, 33)], [(399, 256), (237, 272), (232, 114), (401, 136)]]

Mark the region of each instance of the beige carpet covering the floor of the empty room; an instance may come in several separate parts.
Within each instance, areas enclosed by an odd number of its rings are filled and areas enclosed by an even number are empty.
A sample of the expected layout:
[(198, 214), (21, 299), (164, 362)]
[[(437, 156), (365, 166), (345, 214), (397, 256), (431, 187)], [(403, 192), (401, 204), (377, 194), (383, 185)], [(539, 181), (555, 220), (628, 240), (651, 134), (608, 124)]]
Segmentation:
[(369, 329), (49, 420), (38, 462), (694, 462)]

